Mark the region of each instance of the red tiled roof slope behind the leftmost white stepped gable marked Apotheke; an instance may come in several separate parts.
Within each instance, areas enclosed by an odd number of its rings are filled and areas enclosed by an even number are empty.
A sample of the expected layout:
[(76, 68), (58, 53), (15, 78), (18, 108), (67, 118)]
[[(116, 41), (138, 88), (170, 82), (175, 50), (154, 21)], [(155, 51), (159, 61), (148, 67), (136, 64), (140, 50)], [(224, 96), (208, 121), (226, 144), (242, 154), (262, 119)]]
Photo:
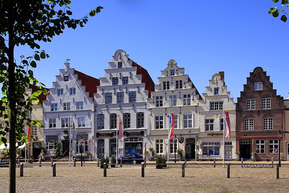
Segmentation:
[(74, 70), (74, 73), (78, 75), (78, 80), (81, 80), (81, 86), (86, 86), (85, 91), (89, 92), (89, 97), (93, 98), (93, 94), (97, 93), (97, 86), (100, 85), (99, 79), (88, 76), (77, 70)]

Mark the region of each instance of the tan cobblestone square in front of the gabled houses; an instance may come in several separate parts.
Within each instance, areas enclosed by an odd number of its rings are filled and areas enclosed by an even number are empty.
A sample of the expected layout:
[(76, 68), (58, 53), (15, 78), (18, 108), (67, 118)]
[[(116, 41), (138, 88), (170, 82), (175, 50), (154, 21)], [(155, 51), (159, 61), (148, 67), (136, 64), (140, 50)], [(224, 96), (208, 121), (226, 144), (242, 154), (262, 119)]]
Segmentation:
[[(241, 168), (240, 165), (231, 165), (231, 178), (228, 179), (226, 166), (223, 168), (222, 165), (216, 165), (214, 168), (212, 165), (199, 165), (200, 162), (191, 163), (195, 164), (195, 167), (185, 168), (185, 177), (181, 177), (181, 168), (156, 169), (155, 165), (147, 165), (145, 177), (141, 177), (140, 165), (108, 168), (107, 177), (103, 177), (103, 169), (97, 167), (96, 162), (86, 162), (85, 167), (80, 167), (79, 162), (76, 167), (68, 167), (67, 163), (56, 163), (56, 177), (52, 177), (51, 166), (24, 168), (24, 177), (19, 177), (20, 169), (16, 168), (16, 192), (289, 191), (289, 165), (286, 164), (282, 164), (279, 169), (280, 179), (276, 179), (276, 166)], [(271, 162), (247, 163), (270, 164)], [(49, 163), (42, 162), (42, 164)], [(0, 192), (8, 192), (8, 168), (0, 168), (0, 178)]]

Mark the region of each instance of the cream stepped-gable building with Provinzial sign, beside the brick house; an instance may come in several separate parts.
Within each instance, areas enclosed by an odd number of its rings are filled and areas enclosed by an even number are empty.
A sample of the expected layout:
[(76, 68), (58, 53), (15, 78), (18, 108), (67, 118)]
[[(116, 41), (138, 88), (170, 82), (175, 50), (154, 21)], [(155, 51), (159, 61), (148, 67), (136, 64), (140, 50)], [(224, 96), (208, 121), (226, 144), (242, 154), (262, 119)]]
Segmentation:
[[(228, 111), (231, 138), (225, 139), (225, 159), (235, 159), (236, 151), (236, 104), (227, 92), (224, 72), (214, 74), (199, 101), (199, 141), (202, 152), (199, 158), (223, 159), (224, 118), (221, 111)], [(200, 157), (201, 156), (201, 157)]]

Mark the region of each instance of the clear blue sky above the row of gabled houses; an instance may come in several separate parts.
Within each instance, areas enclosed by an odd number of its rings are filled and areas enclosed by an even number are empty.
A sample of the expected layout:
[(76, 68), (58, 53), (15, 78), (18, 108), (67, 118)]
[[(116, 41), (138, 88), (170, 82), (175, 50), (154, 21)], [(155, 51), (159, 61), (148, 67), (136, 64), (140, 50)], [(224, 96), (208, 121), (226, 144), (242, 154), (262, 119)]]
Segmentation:
[[(51, 88), (66, 59), (70, 67), (103, 77), (117, 49), (147, 69), (155, 84), (170, 59), (185, 68), (200, 93), (209, 79), (225, 71), (225, 82), (236, 99), (249, 72), (261, 66), (277, 94), (287, 99), (289, 21), (268, 14), (281, 3), (258, 1), (71, 0), (73, 18), (104, 7), (85, 27), (65, 29), (52, 42), (41, 43), (49, 59), (38, 61), (35, 77)], [(285, 6), (282, 8), (289, 12)], [(30, 56), (28, 47), (16, 49)], [(237, 102), (237, 101), (236, 101)]]

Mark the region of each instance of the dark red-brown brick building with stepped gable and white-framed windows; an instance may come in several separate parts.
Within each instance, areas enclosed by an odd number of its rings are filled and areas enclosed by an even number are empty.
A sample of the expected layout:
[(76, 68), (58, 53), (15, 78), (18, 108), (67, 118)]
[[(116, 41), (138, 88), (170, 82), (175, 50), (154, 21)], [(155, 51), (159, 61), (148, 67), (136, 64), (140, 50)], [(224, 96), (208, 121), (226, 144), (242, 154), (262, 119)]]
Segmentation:
[[(256, 67), (247, 77), (236, 104), (236, 151), (240, 158), (279, 160), (277, 133), (283, 133), (283, 97), (276, 95), (270, 76)], [(281, 158), (283, 157), (281, 140)]]

